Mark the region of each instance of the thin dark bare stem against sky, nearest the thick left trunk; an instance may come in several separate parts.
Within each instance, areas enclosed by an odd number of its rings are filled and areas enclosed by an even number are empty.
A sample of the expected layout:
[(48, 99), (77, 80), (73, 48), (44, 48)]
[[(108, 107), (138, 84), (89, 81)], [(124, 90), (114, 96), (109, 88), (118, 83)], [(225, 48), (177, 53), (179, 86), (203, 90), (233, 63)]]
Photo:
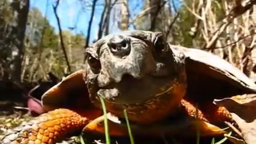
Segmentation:
[(62, 51), (63, 51), (64, 56), (65, 56), (65, 60), (66, 60), (67, 66), (68, 66), (68, 71), (71, 73), (71, 68), (70, 68), (70, 64), (68, 62), (68, 56), (67, 56), (67, 52), (66, 52), (66, 49), (65, 49), (65, 46), (64, 46), (64, 42), (63, 42), (63, 37), (62, 37), (62, 29), (61, 29), (61, 26), (60, 26), (60, 18), (59, 18), (58, 14), (57, 14), (57, 8), (59, 6), (59, 3), (60, 3), (60, 0), (57, 0), (56, 5), (55, 6), (52, 5), (52, 8), (53, 8), (54, 15), (55, 15), (57, 23), (58, 23), (61, 48), (62, 48)]

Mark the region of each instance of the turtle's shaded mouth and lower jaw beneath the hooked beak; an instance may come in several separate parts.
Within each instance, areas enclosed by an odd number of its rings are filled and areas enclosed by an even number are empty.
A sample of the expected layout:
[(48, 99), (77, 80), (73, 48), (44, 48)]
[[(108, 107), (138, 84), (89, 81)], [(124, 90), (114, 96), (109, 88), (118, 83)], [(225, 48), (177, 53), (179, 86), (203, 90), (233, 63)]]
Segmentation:
[(170, 93), (172, 80), (170, 77), (145, 75), (134, 78), (124, 75), (119, 83), (110, 84), (106, 88), (99, 88), (97, 96), (115, 104), (143, 104)]

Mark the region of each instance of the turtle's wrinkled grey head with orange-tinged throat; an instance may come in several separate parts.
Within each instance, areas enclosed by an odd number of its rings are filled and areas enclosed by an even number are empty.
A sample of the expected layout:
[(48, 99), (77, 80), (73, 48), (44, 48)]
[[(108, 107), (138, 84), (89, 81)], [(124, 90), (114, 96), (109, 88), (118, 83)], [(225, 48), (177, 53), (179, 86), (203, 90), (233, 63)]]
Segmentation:
[(160, 32), (134, 34), (108, 35), (88, 48), (84, 80), (93, 104), (101, 107), (103, 96), (109, 112), (122, 117), (126, 109), (130, 120), (146, 124), (170, 114), (184, 96), (184, 57), (174, 56)]

